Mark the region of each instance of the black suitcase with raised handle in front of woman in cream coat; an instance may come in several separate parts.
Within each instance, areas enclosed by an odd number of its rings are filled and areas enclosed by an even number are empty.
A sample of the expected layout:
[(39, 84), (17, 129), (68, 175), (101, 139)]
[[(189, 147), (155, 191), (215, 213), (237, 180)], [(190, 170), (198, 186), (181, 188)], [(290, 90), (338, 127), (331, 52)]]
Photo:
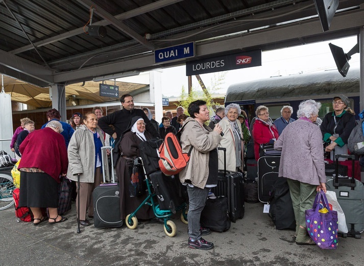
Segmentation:
[[(224, 150), (224, 167), (226, 168), (226, 148)], [(244, 176), (240, 172), (219, 170), (217, 186), (212, 188), (216, 196), (228, 198), (228, 210), (230, 220), (235, 223), (237, 219), (244, 217), (245, 198), (244, 198)]]

